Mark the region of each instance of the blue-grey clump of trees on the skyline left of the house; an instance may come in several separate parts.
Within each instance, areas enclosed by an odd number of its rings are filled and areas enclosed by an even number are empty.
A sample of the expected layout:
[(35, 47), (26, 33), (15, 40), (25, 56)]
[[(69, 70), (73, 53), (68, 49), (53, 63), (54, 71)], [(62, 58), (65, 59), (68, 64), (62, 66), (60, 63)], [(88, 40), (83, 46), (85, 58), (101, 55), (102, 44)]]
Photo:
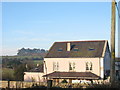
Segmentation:
[(30, 49), (30, 48), (22, 48), (18, 50), (17, 56), (42, 56), (45, 57), (48, 50), (45, 49)]

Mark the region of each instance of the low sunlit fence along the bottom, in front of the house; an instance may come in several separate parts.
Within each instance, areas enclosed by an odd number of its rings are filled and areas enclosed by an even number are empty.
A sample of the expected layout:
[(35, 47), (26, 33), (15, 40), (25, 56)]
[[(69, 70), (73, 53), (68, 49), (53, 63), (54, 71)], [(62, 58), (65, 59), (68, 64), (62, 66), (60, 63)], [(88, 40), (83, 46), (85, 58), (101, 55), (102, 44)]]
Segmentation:
[[(98, 80), (96, 84), (108, 83), (103, 80)], [(55, 83), (52, 82), (52, 87), (62, 88), (83, 88), (89, 86), (90, 83)], [(47, 86), (47, 82), (25, 82), (25, 81), (0, 81), (0, 88), (29, 88), (32, 86)]]

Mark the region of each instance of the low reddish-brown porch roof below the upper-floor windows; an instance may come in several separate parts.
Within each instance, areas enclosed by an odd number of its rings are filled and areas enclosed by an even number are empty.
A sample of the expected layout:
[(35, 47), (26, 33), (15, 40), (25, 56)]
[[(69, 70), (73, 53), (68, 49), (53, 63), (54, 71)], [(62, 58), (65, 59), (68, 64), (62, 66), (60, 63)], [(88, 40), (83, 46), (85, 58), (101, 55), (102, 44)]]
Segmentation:
[(49, 78), (77, 78), (77, 79), (99, 79), (100, 77), (91, 72), (53, 72), (43, 77)]

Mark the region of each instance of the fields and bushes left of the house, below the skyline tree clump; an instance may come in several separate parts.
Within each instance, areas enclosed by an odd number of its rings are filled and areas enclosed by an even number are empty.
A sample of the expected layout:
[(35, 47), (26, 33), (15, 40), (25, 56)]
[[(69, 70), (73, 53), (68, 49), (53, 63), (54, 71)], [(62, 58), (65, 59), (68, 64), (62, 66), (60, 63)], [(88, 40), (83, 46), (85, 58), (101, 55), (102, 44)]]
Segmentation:
[[(35, 68), (38, 64), (43, 64), (41, 56), (3, 56), (2, 78), (3, 80), (23, 80), (24, 72)], [(26, 69), (27, 65), (27, 69)]]

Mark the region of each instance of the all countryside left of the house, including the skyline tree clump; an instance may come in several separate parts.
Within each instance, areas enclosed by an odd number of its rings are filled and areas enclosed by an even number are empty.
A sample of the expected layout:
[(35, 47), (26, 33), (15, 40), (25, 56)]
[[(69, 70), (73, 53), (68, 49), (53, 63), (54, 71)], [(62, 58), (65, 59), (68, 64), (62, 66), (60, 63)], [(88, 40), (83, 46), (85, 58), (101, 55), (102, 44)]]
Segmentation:
[[(18, 50), (16, 56), (2, 56), (2, 80), (23, 80), (24, 72), (43, 65), (42, 61), (47, 54), (45, 49)], [(27, 69), (26, 69), (27, 65)]]

